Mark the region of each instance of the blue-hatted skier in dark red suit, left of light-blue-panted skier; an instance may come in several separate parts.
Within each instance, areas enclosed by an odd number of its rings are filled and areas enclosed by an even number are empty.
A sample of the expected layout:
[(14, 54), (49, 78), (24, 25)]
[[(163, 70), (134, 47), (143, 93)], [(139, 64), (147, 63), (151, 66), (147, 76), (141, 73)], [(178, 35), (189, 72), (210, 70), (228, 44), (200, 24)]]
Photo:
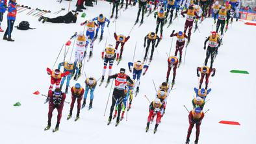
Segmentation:
[(75, 86), (73, 86), (71, 88), (72, 101), (70, 104), (70, 114), (68, 115), (68, 119), (70, 119), (72, 116), (75, 100), (77, 100), (77, 117), (75, 118), (75, 121), (77, 121), (77, 119), (79, 119), (79, 114), (80, 114), (80, 109), (81, 109), (81, 101), (83, 99), (83, 95), (84, 95), (84, 88), (82, 88), (79, 83), (75, 84)]

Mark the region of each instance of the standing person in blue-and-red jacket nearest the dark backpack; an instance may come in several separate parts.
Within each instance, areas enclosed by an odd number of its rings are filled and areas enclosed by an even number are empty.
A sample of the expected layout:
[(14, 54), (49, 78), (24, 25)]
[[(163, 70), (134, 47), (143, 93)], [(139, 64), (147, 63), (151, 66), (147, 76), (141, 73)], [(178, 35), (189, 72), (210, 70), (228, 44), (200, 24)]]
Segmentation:
[[(7, 14), (7, 24), (8, 27), (5, 30), (5, 34), (3, 36), (3, 40), (7, 40), (9, 42), (14, 42), (14, 40), (12, 40), (12, 29), (14, 27), (14, 21), (16, 19), (16, 14), (17, 14), (17, 3), (16, 0), (10, 0), (8, 3), (8, 14)], [(8, 36), (8, 38), (7, 38)]]

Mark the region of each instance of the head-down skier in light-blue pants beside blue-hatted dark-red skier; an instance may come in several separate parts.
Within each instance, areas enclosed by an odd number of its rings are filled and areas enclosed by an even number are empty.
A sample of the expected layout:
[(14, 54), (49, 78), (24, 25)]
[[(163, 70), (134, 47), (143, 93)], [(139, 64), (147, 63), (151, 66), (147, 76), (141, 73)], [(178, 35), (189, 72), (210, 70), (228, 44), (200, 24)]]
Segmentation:
[(90, 104), (89, 104), (89, 109), (92, 108), (92, 101), (94, 101), (94, 90), (97, 86), (97, 80), (96, 78), (94, 77), (89, 77), (89, 78), (86, 78), (85, 80), (85, 93), (84, 93), (84, 102), (83, 102), (83, 106), (85, 106), (86, 104), (86, 99), (87, 99), (87, 95), (88, 95), (88, 92), (90, 90)]

